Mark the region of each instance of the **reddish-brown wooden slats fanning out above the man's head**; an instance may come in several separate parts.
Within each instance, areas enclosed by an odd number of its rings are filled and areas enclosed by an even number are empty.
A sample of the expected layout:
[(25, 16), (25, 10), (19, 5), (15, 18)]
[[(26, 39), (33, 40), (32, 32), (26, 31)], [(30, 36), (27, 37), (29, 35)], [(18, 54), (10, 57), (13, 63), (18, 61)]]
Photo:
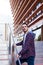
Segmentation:
[[(36, 9), (38, 3), (41, 6)], [(14, 33), (21, 32), (21, 24), (24, 20), (28, 22), (32, 19), (39, 11), (43, 11), (43, 0), (10, 0), (12, 14), (14, 17)], [(33, 14), (32, 14), (32, 11)]]

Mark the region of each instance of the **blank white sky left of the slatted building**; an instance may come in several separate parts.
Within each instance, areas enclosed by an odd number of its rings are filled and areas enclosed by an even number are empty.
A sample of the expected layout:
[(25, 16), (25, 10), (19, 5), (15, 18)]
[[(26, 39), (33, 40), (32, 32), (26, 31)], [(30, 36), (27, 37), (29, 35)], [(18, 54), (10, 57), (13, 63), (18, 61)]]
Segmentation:
[(0, 23), (12, 23), (12, 12), (9, 0), (0, 0)]

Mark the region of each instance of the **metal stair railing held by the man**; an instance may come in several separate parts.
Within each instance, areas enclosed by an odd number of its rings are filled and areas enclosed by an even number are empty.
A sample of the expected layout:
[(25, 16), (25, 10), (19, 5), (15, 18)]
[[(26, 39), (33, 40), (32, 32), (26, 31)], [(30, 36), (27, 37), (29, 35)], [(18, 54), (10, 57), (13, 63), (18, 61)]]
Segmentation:
[[(13, 37), (13, 33), (12, 33), (12, 30), (11, 30), (11, 27), (10, 27), (9, 24), (8, 24), (8, 26), (9, 26), (9, 28), (10, 28), (12, 40), (13, 40), (13, 42), (15, 43), (15, 40), (14, 40), (14, 37)], [(10, 40), (10, 41), (11, 41), (11, 40)], [(12, 65), (14, 65), (14, 60), (15, 60), (15, 59), (14, 59), (14, 45), (15, 45), (14, 43), (13, 43), (12, 51), (11, 51), (12, 54), (9, 54), (9, 61), (10, 61), (10, 64), (12, 64)], [(17, 48), (16, 48), (16, 53), (18, 54)], [(18, 58), (18, 61), (19, 61), (19, 65), (21, 65), (21, 62), (20, 62), (19, 58)], [(16, 65), (16, 62), (15, 62), (15, 65)]]

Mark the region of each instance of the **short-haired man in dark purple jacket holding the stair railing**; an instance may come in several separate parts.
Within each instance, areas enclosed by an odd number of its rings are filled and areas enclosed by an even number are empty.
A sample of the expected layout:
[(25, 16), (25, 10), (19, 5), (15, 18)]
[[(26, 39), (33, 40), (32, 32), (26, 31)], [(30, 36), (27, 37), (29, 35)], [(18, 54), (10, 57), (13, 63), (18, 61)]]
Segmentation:
[[(22, 30), (24, 32), (23, 40), (16, 45), (22, 45), (22, 50), (18, 54), (20, 57), (21, 64), (27, 62), (28, 65), (34, 65), (35, 58), (35, 47), (34, 47), (34, 38), (35, 34), (33, 32), (28, 31), (28, 26), (26, 23), (23, 23)], [(16, 64), (19, 65), (18, 60)]]

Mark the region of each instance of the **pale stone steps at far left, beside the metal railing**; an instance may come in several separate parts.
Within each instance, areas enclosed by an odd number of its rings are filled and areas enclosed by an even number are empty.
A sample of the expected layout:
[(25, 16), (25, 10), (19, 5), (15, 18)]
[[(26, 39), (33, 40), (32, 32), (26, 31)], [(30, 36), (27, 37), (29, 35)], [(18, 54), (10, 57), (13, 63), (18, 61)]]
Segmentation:
[(9, 65), (8, 44), (5, 41), (0, 43), (0, 65)]

